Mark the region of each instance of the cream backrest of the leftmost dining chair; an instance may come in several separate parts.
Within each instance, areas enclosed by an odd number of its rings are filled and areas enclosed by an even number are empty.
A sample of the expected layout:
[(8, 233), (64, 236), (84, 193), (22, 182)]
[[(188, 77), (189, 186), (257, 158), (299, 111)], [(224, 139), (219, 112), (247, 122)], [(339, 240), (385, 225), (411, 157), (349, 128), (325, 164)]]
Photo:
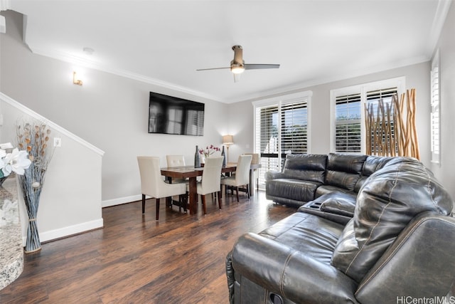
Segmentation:
[(160, 186), (165, 184), (161, 176), (159, 157), (138, 156), (139, 173), (141, 175), (141, 192), (151, 197), (159, 198)]

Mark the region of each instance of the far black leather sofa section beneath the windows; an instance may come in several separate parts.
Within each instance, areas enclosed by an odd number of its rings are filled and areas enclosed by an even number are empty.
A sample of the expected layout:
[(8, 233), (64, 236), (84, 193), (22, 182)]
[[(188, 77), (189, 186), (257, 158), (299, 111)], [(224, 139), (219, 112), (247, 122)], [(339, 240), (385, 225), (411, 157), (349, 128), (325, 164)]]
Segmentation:
[(390, 159), (363, 154), (287, 154), (282, 172), (265, 174), (265, 194), (290, 206), (302, 206), (331, 192), (355, 199), (363, 182)]

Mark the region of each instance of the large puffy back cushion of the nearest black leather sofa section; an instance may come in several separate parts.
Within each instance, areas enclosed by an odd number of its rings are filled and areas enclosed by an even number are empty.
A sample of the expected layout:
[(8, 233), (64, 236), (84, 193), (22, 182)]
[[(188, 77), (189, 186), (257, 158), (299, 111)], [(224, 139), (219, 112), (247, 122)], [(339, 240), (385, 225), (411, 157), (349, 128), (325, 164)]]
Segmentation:
[(353, 219), (333, 252), (332, 265), (359, 282), (423, 211), (451, 213), (453, 201), (417, 159), (395, 157), (360, 188)]

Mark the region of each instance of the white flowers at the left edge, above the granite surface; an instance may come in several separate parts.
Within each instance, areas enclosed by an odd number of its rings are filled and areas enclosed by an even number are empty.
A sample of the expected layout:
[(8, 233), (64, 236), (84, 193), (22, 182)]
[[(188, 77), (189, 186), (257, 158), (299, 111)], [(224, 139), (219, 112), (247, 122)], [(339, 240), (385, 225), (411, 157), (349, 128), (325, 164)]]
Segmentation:
[(6, 152), (6, 149), (12, 147), (10, 142), (0, 145), (0, 179), (8, 177), (11, 172), (23, 175), (25, 169), (30, 167), (31, 160), (28, 159), (28, 153), (19, 151), (18, 148), (14, 148), (11, 153)]

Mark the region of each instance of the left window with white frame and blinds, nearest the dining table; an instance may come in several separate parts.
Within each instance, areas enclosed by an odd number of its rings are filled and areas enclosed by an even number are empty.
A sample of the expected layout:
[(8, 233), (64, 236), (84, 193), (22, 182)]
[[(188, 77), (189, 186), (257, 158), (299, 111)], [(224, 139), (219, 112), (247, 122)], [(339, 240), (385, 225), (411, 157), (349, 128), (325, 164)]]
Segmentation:
[(255, 152), (261, 155), (259, 187), (264, 173), (281, 171), (286, 154), (308, 152), (308, 117), (311, 92), (262, 100), (255, 106)]

